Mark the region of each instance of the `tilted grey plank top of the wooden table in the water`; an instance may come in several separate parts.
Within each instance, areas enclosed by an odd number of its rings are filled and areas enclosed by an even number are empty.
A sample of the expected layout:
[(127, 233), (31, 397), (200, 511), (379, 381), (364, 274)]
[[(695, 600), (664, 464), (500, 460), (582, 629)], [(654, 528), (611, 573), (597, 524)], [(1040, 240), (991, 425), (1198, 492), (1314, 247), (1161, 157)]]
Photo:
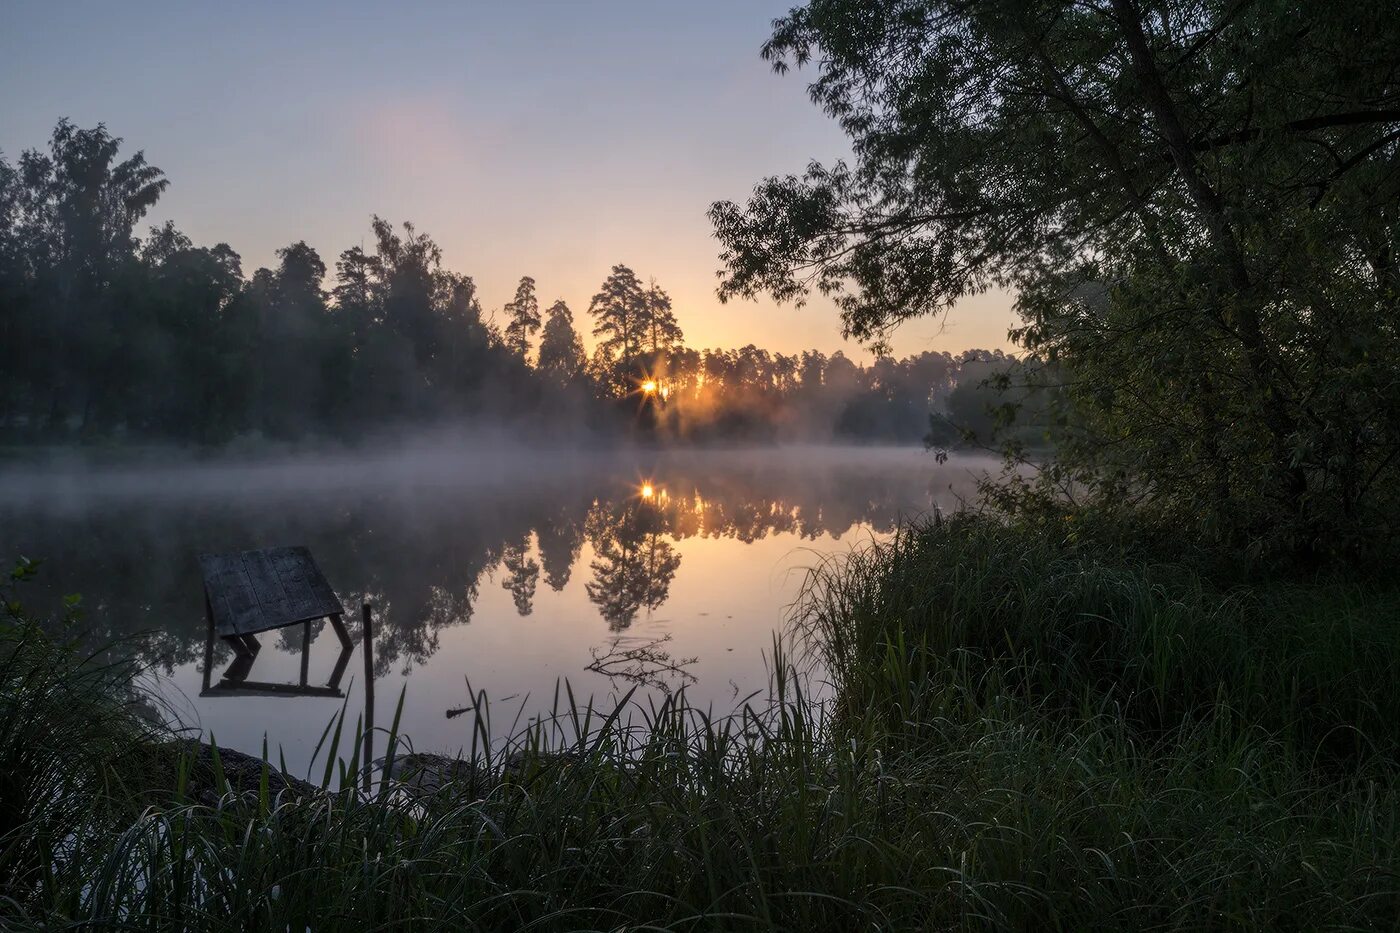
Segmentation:
[(199, 567), (220, 636), (255, 635), (344, 614), (305, 548), (202, 553)]

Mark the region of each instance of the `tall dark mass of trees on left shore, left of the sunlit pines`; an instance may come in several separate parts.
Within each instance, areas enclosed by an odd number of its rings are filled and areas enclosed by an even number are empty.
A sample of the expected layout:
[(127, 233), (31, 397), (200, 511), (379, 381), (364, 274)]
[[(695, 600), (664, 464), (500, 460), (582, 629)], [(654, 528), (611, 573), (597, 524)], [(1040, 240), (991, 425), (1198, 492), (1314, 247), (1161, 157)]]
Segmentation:
[(413, 224), (374, 217), (372, 247), (340, 254), (329, 291), (304, 241), (245, 277), (227, 244), (171, 223), (139, 235), (167, 182), (120, 144), (62, 120), (48, 151), (0, 158), (7, 434), (224, 443), (539, 408), (473, 280)]

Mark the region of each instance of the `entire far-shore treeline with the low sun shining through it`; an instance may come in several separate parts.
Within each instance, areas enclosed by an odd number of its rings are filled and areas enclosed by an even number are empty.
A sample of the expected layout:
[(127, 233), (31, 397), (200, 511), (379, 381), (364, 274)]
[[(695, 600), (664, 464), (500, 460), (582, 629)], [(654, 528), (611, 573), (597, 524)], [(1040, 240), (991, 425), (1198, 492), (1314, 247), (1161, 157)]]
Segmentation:
[[(669, 296), (615, 266), (585, 357), (567, 303), (519, 280), (501, 317), (412, 223), (375, 216), (328, 262), (305, 241), (245, 276), (227, 244), (137, 227), (165, 192), (105, 126), (60, 120), (0, 158), (0, 436), (11, 443), (350, 437), (500, 420), (673, 438), (917, 440), (967, 361), (693, 350)], [(977, 384), (983, 381), (979, 374)], [(647, 388), (644, 388), (647, 387)], [(974, 392), (963, 385), (963, 395)], [(977, 412), (988, 406), (979, 401)]]

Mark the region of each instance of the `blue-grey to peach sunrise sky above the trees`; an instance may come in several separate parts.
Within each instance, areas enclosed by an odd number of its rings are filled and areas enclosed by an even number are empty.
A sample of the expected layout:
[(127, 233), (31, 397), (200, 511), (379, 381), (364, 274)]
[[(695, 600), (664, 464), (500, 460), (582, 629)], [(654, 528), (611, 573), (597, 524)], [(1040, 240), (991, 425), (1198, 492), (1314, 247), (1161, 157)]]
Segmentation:
[[(105, 122), (171, 179), (150, 223), (228, 242), (249, 275), (297, 240), (333, 268), (379, 214), (428, 233), (487, 312), (531, 275), (585, 324), (626, 263), (671, 293), (689, 346), (869, 359), (823, 298), (715, 297), (710, 203), (848, 153), (809, 76), (759, 57), (788, 6), (6, 0), (0, 151)], [(1009, 349), (1011, 300), (906, 324), (893, 349)]]

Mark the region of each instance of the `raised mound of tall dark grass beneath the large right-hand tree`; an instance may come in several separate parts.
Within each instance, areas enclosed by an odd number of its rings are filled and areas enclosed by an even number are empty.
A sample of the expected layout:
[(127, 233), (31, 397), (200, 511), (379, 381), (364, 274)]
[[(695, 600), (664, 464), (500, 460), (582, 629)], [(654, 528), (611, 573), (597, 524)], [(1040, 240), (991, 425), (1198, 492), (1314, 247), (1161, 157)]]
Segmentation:
[[(1205, 721), (1309, 756), (1400, 761), (1400, 588), (1218, 587), (1180, 563), (959, 516), (811, 577), (798, 618), (841, 714), (904, 741), (973, 706)], [(973, 705), (973, 706), (970, 706)]]

